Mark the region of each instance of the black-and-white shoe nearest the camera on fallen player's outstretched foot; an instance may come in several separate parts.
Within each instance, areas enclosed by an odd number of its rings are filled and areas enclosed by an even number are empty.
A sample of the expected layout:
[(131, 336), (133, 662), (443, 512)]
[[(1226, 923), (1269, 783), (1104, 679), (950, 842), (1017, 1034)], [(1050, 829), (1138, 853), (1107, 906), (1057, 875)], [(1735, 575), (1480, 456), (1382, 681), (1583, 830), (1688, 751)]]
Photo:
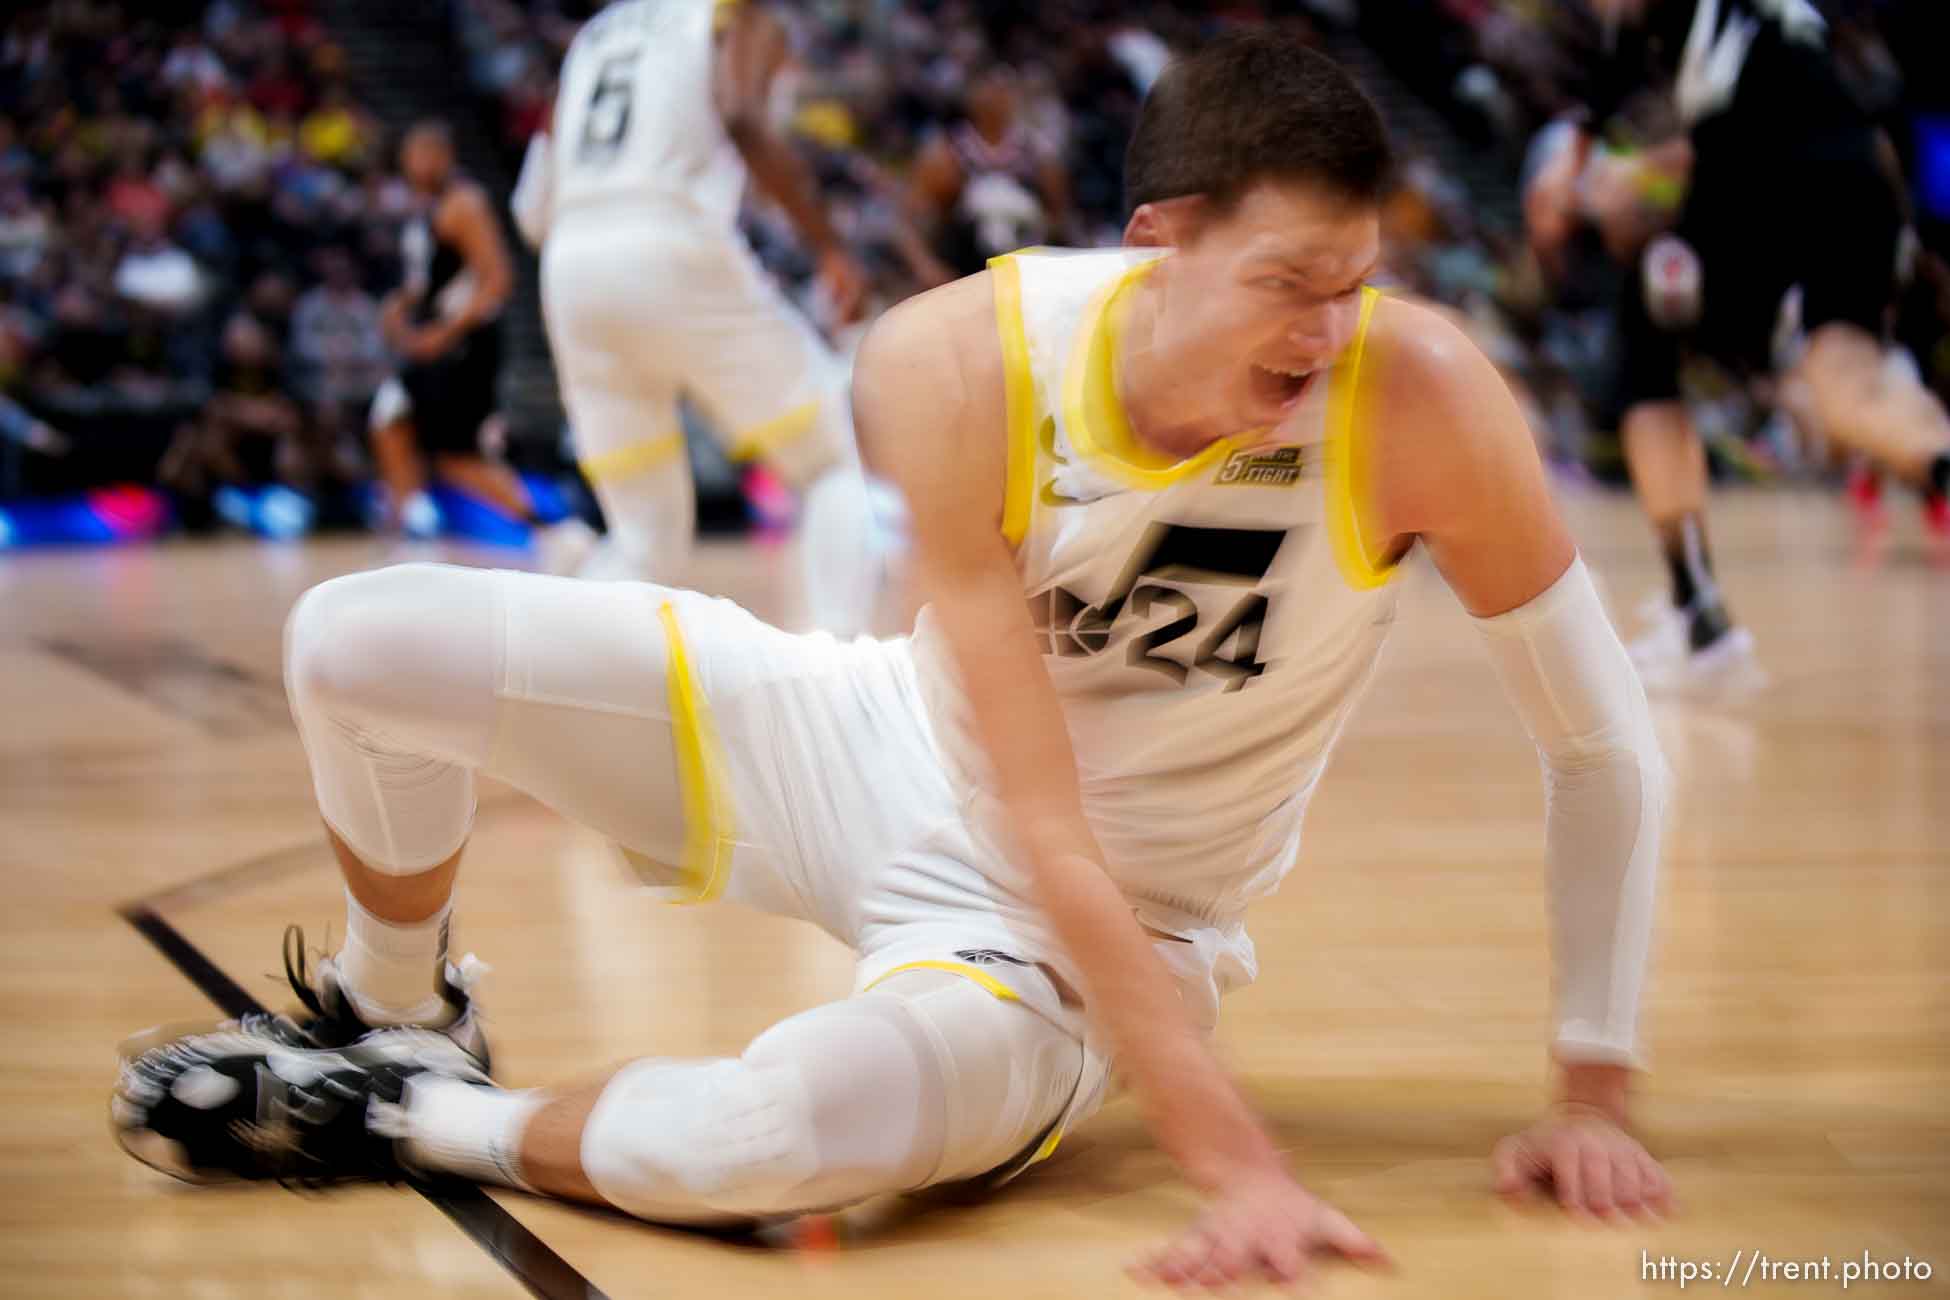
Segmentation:
[(421, 1177), (400, 1160), (415, 1076), (488, 1084), (437, 1029), (372, 1029), (337, 1051), (218, 1029), (125, 1062), (109, 1119), (125, 1152), (185, 1183), (398, 1183)]

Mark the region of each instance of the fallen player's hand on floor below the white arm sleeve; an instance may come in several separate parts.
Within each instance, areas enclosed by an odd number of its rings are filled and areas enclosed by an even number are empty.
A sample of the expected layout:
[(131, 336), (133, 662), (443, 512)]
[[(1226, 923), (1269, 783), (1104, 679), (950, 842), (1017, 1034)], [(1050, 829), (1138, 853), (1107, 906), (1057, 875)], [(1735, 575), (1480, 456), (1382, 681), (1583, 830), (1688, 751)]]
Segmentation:
[(1599, 1218), (1659, 1216), (1673, 1208), (1673, 1183), (1630, 1132), (1595, 1107), (1560, 1107), (1490, 1156), (1496, 1191), (1511, 1201), (1550, 1189), (1566, 1210)]

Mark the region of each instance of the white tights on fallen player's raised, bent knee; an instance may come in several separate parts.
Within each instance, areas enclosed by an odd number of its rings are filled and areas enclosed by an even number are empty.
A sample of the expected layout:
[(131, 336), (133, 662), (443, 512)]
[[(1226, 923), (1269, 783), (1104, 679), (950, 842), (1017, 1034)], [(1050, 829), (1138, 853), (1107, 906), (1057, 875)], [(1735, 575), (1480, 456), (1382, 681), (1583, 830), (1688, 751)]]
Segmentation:
[(474, 774), (489, 772), (675, 860), (682, 799), (655, 589), (618, 591), (447, 565), (308, 591), (285, 628), (285, 686), (326, 824), (374, 871), (413, 875), (466, 840)]

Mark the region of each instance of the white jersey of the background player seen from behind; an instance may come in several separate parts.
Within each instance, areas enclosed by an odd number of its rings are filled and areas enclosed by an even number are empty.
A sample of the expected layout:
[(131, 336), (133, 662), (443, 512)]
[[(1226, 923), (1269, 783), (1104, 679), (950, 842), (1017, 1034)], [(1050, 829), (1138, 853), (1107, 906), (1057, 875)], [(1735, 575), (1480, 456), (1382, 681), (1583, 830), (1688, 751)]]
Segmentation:
[(712, 97), (712, 37), (725, 8), (727, 0), (622, 0), (575, 33), (556, 96), (556, 216), (616, 199), (665, 199), (735, 226), (745, 162)]

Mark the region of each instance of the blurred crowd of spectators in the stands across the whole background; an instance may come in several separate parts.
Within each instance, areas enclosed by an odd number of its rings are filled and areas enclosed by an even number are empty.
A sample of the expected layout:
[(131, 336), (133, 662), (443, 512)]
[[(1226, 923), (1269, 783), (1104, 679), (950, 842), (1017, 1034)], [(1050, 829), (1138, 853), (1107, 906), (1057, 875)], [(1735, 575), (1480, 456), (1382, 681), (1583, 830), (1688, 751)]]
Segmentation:
[[(601, 6), (425, 2), (445, 6), (476, 111), (513, 173), (548, 123), (564, 51)], [(1944, 47), (1905, 25), (1938, 2), (1821, 0), (1851, 86), (1911, 177), (1930, 172), (1917, 123), (1944, 113), (1930, 97), (1950, 78), (1934, 66)], [(1539, 133), (1576, 109), (1591, 76), (1630, 74), (1605, 66), (1591, 0), (782, 8), (796, 55), (776, 111), (815, 158), (878, 306), (1010, 248), (1115, 242), (1123, 140), (1170, 51), (1238, 21), (1312, 29), (1371, 82), (1398, 131), (1386, 281), (1455, 308), (1519, 382), (1558, 460), (1607, 460), (1587, 413), (1603, 405), (1628, 259), (1611, 249), (1550, 273), (1517, 203)], [(20, 448), (27, 487), (113, 478), (144, 456), (187, 491), (213, 478), (361, 474), (365, 403), (390, 364), (374, 302), (394, 283), (411, 199), (386, 166), (386, 133), (347, 88), (326, 12), (314, 0), (58, 0), (6, 19), (0, 497), (21, 489)], [(1648, 86), (1595, 127), (1632, 150), (1673, 117)], [(1634, 220), (1656, 226), (1677, 197), (1644, 195)], [(755, 203), (745, 226), (817, 314), (811, 265), (784, 220)], [(1917, 226), (1915, 312), (1899, 337), (1950, 392), (1950, 277), (1930, 255), (1944, 248), (1944, 210), (1921, 203)], [(1734, 423), (1749, 431), (1763, 415), (1743, 407)], [(58, 454), (70, 446), (88, 448), (86, 468), (64, 476), (57, 466), (80, 460)]]

